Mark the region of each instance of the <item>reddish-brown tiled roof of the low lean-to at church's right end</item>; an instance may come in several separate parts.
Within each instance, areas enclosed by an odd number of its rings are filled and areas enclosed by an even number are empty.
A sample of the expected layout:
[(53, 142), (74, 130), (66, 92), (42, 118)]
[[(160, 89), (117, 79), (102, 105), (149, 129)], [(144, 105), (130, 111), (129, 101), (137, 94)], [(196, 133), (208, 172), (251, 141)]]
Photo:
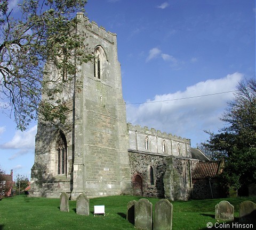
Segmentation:
[(193, 179), (216, 177), (219, 173), (221, 161), (198, 162), (192, 174)]

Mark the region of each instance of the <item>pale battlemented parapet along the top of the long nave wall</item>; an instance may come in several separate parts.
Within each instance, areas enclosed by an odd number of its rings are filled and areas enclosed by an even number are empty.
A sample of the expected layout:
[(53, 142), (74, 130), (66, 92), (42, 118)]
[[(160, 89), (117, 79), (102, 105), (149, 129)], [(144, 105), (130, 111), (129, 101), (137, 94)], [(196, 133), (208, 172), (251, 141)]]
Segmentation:
[(147, 126), (141, 127), (140, 125), (132, 125), (131, 123), (127, 123), (127, 127), (128, 127), (129, 131), (140, 132), (140, 133), (145, 133), (148, 135), (155, 135), (155, 136), (162, 137), (165, 139), (177, 140), (177, 141), (190, 143), (190, 139), (181, 138), (181, 137), (178, 137), (177, 135), (172, 135), (171, 133), (167, 134), (166, 132), (161, 132), (159, 130), (156, 131), (154, 128), (149, 129)]

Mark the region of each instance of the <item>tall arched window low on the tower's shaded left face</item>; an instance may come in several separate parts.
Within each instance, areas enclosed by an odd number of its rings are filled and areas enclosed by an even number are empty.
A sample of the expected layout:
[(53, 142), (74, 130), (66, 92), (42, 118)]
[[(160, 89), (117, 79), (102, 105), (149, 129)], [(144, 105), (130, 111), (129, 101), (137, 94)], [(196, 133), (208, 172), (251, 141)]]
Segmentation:
[(57, 142), (58, 174), (67, 173), (67, 141), (65, 135), (60, 132)]

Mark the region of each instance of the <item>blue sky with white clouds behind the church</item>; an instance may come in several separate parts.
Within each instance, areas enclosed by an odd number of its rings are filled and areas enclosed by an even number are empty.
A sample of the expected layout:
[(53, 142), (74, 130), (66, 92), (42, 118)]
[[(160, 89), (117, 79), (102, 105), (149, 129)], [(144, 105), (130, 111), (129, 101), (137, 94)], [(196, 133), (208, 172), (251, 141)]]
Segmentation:
[[(19, 0), (9, 1), (17, 7)], [(90, 21), (117, 34), (127, 122), (205, 142), (230, 91), (255, 78), (254, 0), (89, 0)], [(37, 122), (23, 133), (0, 110), (0, 167), (34, 164)], [(7, 113), (7, 114), (6, 114)]]

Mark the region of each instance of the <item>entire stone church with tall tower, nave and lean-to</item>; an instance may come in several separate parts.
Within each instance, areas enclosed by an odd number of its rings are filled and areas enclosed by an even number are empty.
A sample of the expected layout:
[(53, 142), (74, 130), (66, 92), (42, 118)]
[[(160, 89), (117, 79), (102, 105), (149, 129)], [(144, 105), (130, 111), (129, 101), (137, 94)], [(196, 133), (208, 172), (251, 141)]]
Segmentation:
[(126, 123), (116, 34), (83, 13), (77, 18), (95, 59), (78, 66), (72, 86), (60, 95), (69, 108), (65, 125), (38, 119), (29, 195), (219, 197), (219, 161), (191, 148), (190, 139)]

